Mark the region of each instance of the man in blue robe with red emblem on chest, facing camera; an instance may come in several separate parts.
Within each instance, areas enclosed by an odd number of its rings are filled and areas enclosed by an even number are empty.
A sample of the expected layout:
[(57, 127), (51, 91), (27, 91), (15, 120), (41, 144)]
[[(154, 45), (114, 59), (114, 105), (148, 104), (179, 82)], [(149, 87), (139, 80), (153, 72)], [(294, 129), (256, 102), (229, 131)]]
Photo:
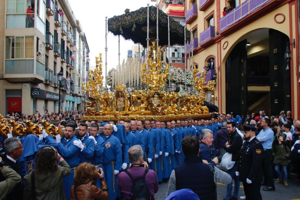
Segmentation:
[(119, 174), (122, 167), (121, 143), (118, 138), (112, 135), (112, 132), (113, 128), (111, 124), (105, 124), (103, 134), (101, 135), (104, 140), (103, 171), (109, 188), (108, 199), (110, 200), (114, 200), (118, 196), (119, 189), (117, 174)]

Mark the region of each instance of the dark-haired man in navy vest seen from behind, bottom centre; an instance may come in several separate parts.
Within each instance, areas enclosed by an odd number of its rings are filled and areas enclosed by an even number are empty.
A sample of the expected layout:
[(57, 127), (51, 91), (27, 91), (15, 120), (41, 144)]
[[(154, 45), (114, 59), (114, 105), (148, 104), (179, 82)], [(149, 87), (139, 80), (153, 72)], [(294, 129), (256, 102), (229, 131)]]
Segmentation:
[[(182, 141), (184, 163), (174, 168), (171, 173), (168, 193), (179, 189), (191, 189), (200, 199), (217, 199), (216, 185), (214, 184), (214, 172), (209, 165), (198, 157), (199, 140), (196, 135), (187, 135)], [(212, 167), (212, 165), (211, 165)]]

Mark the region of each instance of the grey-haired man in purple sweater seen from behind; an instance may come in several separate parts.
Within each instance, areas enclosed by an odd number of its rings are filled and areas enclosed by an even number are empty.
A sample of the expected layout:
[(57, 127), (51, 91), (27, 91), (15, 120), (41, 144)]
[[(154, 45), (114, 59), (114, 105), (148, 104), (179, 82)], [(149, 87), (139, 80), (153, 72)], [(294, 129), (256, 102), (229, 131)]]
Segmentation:
[[(148, 169), (147, 162), (143, 161), (143, 148), (140, 145), (134, 145), (128, 150), (128, 158), (131, 162), (131, 167), (127, 171), (123, 171), (118, 177), (118, 186), (126, 199), (131, 199), (132, 185), (134, 179), (145, 177), (146, 183), (151, 198), (158, 192), (158, 179), (155, 171)], [(145, 198), (145, 197), (144, 197)]]

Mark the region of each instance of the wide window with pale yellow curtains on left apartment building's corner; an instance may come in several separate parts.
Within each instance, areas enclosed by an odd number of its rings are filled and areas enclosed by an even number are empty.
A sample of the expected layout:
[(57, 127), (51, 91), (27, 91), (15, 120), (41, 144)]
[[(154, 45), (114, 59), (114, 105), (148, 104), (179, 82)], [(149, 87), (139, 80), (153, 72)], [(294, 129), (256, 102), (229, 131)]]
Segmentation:
[(5, 37), (5, 59), (33, 58), (33, 36)]

